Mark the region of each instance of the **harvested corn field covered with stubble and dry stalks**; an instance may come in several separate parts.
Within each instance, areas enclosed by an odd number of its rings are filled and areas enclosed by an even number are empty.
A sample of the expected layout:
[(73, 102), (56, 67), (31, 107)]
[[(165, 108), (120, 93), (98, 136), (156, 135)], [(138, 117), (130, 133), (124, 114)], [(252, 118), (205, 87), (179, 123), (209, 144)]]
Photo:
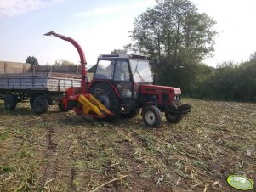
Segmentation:
[(151, 130), (141, 116), (111, 124), (0, 101), (0, 191), (238, 191), (231, 174), (255, 182), (256, 104), (185, 101), (189, 116)]

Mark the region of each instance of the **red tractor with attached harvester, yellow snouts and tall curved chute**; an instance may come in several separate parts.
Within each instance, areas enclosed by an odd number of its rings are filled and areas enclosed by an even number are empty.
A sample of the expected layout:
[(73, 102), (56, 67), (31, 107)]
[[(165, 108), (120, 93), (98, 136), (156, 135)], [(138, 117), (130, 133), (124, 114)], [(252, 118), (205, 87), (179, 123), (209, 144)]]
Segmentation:
[(85, 57), (80, 45), (70, 37), (54, 35), (71, 42), (80, 55), (82, 82), (80, 88), (68, 88), (60, 109), (75, 110), (78, 115), (113, 120), (118, 116), (141, 115), (145, 127), (160, 127), (162, 112), (170, 123), (178, 123), (190, 112), (191, 104), (181, 104), (180, 88), (153, 85), (151, 67), (145, 56), (135, 54), (101, 54), (94, 79), (86, 79)]

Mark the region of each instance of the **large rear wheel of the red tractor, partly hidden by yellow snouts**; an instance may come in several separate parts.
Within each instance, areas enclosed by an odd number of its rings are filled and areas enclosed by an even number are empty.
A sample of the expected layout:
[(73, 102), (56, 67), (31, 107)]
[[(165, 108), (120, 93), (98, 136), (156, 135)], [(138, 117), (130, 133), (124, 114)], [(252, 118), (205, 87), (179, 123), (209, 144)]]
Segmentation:
[(107, 116), (106, 120), (115, 121), (119, 116), (120, 99), (117, 97), (114, 89), (111, 88), (108, 83), (100, 82), (90, 88), (90, 93), (92, 93), (101, 104), (104, 104), (108, 110), (115, 114), (115, 116)]

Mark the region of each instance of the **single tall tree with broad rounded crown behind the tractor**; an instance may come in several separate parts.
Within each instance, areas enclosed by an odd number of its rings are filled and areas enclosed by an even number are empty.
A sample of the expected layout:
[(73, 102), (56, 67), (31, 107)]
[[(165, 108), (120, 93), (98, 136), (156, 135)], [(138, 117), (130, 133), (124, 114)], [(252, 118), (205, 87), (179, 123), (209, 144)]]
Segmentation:
[[(202, 59), (213, 54), (215, 21), (189, 0), (157, 1), (134, 21), (129, 49), (159, 61), (159, 80), (191, 90)], [(202, 66), (205, 68), (205, 66)]]

